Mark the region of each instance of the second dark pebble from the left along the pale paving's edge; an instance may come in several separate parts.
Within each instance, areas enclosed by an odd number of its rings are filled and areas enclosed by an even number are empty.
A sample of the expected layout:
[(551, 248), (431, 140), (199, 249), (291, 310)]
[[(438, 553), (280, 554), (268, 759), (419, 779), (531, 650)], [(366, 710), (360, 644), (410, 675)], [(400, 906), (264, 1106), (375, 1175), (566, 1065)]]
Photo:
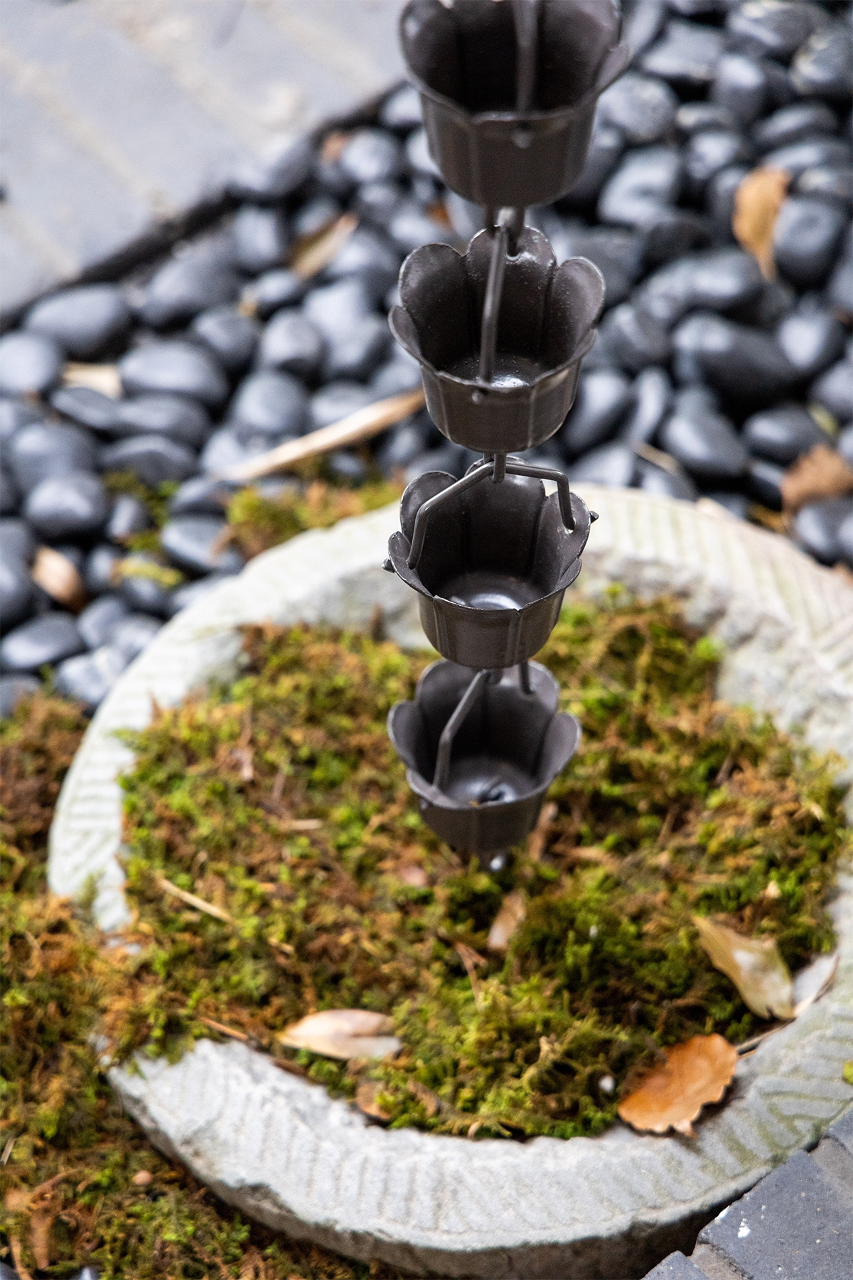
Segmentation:
[(130, 308), (116, 284), (82, 284), (42, 298), (24, 329), (52, 338), (73, 360), (93, 360), (130, 328)]

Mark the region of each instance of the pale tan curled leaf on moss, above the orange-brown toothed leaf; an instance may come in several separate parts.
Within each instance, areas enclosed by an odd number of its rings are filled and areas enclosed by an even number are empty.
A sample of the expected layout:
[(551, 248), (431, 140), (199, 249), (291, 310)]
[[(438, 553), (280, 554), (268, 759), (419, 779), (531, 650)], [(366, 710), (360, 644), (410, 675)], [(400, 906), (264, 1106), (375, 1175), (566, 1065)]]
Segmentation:
[(793, 983), (775, 938), (744, 938), (725, 924), (694, 915), (700, 942), (711, 964), (758, 1018), (793, 1018)]

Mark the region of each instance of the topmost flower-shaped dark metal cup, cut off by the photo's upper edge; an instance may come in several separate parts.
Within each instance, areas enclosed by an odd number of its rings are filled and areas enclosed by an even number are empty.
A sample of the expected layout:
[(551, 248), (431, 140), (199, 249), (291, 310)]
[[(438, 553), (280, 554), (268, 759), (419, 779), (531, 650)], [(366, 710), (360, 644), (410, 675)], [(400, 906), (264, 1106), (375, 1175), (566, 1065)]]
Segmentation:
[(453, 191), (476, 205), (528, 207), (579, 177), (596, 99), (630, 52), (614, 0), (542, 0), (531, 109), (519, 110), (519, 41), (510, 0), (411, 0), (400, 17), (409, 78), (430, 151)]

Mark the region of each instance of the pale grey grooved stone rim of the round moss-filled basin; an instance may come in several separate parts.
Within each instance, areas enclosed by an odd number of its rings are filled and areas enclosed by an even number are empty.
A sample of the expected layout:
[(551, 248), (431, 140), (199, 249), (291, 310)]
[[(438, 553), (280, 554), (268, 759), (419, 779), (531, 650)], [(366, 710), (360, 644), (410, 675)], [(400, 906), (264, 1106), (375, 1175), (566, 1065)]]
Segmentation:
[[(584, 553), (587, 593), (622, 581), (670, 591), (726, 646), (719, 691), (820, 749), (850, 754), (853, 590), (776, 535), (720, 508), (583, 486), (601, 513)], [(413, 593), (379, 564), (396, 509), (306, 534), (253, 561), (173, 620), (116, 684), (69, 771), (49, 877), (78, 893), (100, 874), (105, 928), (127, 919), (116, 861), (129, 753), (151, 698), (175, 703), (234, 669), (235, 626), (327, 620), (418, 643)], [(421, 636), (422, 643), (422, 636)], [(141, 1060), (110, 1080), (152, 1142), (252, 1217), (357, 1258), (453, 1276), (643, 1275), (793, 1149), (813, 1146), (850, 1100), (853, 879), (835, 902), (840, 964), (830, 995), (739, 1064), (728, 1103), (689, 1142), (616, 1125), (596, 1139), (526, 1144), (389, 1133), (242, 1044), (202, 1041), (174, 1066)]]

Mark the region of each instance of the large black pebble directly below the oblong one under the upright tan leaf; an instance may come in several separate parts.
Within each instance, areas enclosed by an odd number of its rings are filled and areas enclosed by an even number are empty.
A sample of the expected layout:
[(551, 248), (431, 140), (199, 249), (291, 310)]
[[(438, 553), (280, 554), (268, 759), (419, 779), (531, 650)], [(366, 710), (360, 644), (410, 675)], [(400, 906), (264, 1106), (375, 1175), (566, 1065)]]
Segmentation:
[(680, 383), (706, 381), (739, 404), (779, 399), (797, 380), (797, 371), (770, 334), (732, 324), (712, 312), (697, 312), (683, 320), (673, 343)]

